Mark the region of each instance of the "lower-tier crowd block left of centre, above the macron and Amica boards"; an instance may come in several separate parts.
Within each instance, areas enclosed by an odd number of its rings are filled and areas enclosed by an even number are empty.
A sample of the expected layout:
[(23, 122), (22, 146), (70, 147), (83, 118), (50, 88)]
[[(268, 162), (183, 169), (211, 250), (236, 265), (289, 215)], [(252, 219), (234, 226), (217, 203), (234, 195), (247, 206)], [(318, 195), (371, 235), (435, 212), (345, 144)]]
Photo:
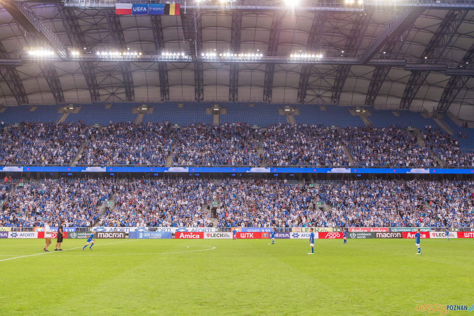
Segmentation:
[(116, 209), (100, 226), (210, 226), (207, 180), (122, 180), (114, 185)]

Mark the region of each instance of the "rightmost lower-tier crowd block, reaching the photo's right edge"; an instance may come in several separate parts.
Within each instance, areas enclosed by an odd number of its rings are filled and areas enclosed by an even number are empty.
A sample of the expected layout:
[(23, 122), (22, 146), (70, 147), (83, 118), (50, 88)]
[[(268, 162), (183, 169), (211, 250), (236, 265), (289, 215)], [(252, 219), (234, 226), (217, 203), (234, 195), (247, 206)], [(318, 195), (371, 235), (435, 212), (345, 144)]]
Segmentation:
[(342, 181), (319, 188), (332, 226), (473, 226), (472, 181)]

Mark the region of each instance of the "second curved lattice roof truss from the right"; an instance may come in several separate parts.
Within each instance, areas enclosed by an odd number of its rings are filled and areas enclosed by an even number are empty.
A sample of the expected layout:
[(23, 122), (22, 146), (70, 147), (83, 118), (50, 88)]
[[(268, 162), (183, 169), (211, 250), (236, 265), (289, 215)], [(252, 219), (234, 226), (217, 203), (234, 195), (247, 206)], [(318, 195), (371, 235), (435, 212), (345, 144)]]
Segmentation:
[[(438, 60), (443, 57), (443, 53), (451, 42), (453, 36), (456, 34), (457, 29), (461, 26), (467, 12), (467, 10), (449, 11), (443, 22), (441, 22), (438, 27), (438, 30), (429, 41), (421, 57), (430, 58), (434, 60), (434, 63), (437, 63)], [(408, 80), (401, 98), (400, 108), (410, 108), (411, 102), (415, 99), (419, 88), (428, 75), (429, 71), (415, 71), (411, 73), (410, 79)]]

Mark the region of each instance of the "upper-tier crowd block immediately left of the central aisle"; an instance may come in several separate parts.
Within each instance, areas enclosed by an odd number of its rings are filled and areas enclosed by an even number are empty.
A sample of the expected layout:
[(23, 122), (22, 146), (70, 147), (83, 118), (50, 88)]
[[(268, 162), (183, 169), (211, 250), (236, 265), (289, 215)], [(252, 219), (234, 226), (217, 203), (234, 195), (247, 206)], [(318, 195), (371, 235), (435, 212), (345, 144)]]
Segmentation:
[(176, 135), (173, 164), (260, 165), (254, 135), (252, 128), (236, 123), (188, 125)]

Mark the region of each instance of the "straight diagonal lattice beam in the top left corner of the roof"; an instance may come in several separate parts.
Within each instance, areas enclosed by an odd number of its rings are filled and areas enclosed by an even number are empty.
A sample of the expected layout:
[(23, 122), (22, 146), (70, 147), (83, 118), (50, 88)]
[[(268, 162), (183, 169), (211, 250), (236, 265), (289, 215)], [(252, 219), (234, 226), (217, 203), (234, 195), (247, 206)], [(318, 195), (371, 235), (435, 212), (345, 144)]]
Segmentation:
[(61, 59), (67, 58), (66, 47), (59, 37), (49, 28), (25, 2), (2, 1), (2, 6), (27, 32), (42, 40), (48, 46), (55, 48)]

